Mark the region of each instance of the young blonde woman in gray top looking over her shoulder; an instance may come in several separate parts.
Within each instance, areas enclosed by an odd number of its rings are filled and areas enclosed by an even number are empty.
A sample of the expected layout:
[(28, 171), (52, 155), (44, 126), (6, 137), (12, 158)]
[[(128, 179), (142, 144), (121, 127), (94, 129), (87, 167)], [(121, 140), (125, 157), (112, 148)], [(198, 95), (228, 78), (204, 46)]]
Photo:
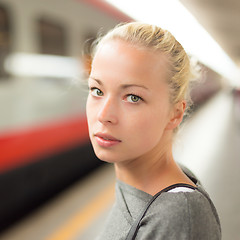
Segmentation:
[(134, 224), (128, 239), (221, 238), (213, 203), (172, 156), (191, 77), (183, 47), (157, 26), (123, 24), (98, 42), (88, 80), (89, 135), (117, 177), (116, 202), (99, 239), (126, 239)]

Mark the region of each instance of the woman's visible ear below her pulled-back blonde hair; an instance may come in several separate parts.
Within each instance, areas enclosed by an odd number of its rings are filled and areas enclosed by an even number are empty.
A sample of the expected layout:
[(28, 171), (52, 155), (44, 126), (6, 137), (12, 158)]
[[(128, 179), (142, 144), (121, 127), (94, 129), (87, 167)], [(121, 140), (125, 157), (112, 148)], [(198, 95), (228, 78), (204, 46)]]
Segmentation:
[(172, 112), (170, 114), (170, 120), (166, 126), (166, 130), (173, 130), (180, 125), (183, 119), (186, 105), (186, 101), (183, 100), (173, 106)]

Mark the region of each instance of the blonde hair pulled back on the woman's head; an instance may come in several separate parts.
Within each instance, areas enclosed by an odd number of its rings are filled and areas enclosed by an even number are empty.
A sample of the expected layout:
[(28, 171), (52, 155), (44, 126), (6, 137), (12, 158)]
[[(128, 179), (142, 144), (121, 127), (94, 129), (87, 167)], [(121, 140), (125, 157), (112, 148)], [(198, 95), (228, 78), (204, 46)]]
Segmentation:
[(131, 22), (117, 25), (105, 36), (95, 42), (93, 57), (97, 49), (106, 41), (120, 39), (148, 50), (157, 51), (167, 56), (169, 63), (170, 102), (178, 103), (186, 100), (191, 103), (189, 94), (189, 82), (194, 74), (190, 60), (182, 45), (167, 30), (158, 26)]

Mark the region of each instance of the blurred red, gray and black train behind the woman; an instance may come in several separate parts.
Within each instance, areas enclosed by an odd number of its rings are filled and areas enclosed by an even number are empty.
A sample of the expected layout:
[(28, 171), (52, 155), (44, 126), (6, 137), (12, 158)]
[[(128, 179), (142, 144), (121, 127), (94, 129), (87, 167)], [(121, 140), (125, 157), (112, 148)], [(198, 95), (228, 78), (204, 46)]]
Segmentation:
[[(88, 48), (132, 20), (100, 0), (0, 0), (0, 230), (101, 165), (85, 117)], [(195, 106), (221, 88), (204, 72)]]

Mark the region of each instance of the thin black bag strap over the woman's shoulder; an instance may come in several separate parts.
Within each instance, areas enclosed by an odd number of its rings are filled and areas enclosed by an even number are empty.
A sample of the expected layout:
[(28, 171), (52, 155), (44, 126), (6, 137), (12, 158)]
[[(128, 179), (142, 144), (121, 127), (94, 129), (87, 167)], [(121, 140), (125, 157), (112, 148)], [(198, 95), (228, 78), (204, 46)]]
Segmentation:
[(137, 232), (138, 232), (138, 229), (140, 228), (140, 223), (141, 223), (141, 220), (143, 219), (143, 217), (145, 216), (147, 210), (149, 209), (149, 207), (151, 206), (151, 204), (155, 201), (156, 198), (158, 198), (163, 192), (168, 192), (176, 187), (187, 187), (187, 188), (191, 188), (191, 189), (196, 189), (196, 187), (192, 186), (192, 185), (189, 185), (189, 184), (185, 184), (185, 183), (176, 183), (176, 184), (173, 184), (171, 186), (168, 186), (164, 189), (162, 189), (160, 192), (156, 193), (152, 199), (148, 202), (148, 204), (146, 205), (146, 207), (143, 209), (143, 211), (141, 212), (141, 214), (138, 216), (138, 218), (134, 221), (132, 227), (130, 228), (129, 232), (128, 232), (128, 235), (127, 235), (127, 238), (126, 240), (134, 240), (136, 235), (137, 235)]

